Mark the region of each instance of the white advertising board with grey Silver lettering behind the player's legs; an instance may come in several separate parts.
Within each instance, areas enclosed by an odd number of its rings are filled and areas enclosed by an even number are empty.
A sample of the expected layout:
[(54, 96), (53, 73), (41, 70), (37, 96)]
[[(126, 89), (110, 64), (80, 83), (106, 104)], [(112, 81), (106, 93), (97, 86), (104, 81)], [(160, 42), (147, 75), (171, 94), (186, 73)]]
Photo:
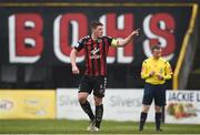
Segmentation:
[[(88, 120), (78, 102), (78, 90), (58, 89), (57, 90), (57, 117), (69, 120)], [(136, 121), (140, 118), (142, 108), (143, 90), (107, 89), (103, 98), (103, 120), (113, 121)], [(93, 96), (89, 96), (92, 110), (94, 111)], [(148, 122), (154, 122), (154, 105), (152, 103)]]

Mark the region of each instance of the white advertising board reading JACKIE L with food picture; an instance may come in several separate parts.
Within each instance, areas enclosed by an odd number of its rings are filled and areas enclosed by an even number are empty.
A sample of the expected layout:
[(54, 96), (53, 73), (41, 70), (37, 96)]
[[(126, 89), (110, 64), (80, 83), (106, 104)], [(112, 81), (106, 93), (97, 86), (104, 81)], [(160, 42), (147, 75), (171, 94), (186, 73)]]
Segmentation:
[(200, 91), (168, 91), (166, 123), (200, 124)]

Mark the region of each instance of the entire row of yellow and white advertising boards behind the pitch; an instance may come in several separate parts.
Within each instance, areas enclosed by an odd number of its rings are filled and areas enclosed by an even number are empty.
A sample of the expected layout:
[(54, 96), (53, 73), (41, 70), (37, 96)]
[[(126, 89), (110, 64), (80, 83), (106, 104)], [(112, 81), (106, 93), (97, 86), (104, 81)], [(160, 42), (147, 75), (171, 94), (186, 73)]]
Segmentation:
[[(142, 108), (141, 89), (108, 89), (103, 98), (103, 120), (138, 122)], [(89, 102), (94, 110), (93, 97)], [(164, 123), (200, 124), (200, 91), (167, 91)], [(0, 120), (88, 120), (76, 89), (1, 90)], [(152, 103), (147, 122), (154, 122)]]

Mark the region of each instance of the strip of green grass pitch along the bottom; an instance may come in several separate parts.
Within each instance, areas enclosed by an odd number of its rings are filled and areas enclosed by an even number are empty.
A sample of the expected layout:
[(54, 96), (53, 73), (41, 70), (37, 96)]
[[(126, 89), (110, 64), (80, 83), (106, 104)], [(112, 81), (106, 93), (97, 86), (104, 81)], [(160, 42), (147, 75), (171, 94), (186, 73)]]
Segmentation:
[[(70, 120), (0, 120), (0, 134), (93, 134), (87, 132), (88, 121)], [(200, 134), (200, 125), (162, 124), (163, 132), (147, 123), (143, 132), (136, 122), (103, 121), (96, 134)]]

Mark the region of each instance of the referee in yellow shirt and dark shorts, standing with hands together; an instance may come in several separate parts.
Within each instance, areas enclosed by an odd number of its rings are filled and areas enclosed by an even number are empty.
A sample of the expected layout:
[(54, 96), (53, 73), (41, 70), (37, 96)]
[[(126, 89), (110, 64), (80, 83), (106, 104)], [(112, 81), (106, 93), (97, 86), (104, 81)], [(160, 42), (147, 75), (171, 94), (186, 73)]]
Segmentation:
[(139, 131), (143, 131), (143, 126), (148, 116), (148, 111), (154, 100), (156, 111), (156, 129), (161, 132), (161, 108), (166, 105), (166, 80), (172, 76), (170, 63), (161, 58), (161, 46), (153, 45), (151, 48), (152, 56), (142, 63), (141, 79), (146, 80), (142, 112), (140, 114)]

